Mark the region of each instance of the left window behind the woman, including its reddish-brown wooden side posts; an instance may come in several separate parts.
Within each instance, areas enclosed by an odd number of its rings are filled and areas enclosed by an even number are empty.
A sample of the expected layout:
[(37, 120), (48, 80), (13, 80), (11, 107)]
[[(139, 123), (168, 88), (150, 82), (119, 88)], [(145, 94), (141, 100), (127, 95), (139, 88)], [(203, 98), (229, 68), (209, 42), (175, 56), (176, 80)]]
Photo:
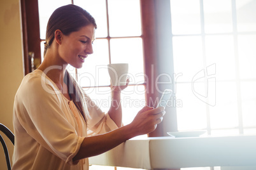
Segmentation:
[[(110, 81), (108, 75), (106, 75), (106, 65), (108, 63), (117, 62), (129, 63), (131, 86), (125, 89), (123, 93), (124, 95), (122, 97), (124, 100), (122, 105), (126, 108), (129, 107), (127, 114), (124, 113), (124, 124), (131, 122), (134, 114), (136, 114), (145, 103), (154, 107), (159, 97), (159, 91), (156, 90), (158, 87), (155, 87), (155, 78), (158, 75), (159, 68), (157, 64), (158, 46), (155, 36), (155, 27), (159, 24), (156, 24), (157, 19), (155, 18), (155, 13), (157, 12), (155, 12), (155, 4), (159, 2), (160, 1), (145, 0), (46, 0), (27, 2), (21, 0), (24, 40), (28, 39), (27, 42), (24, 41), (25, 74), (28, 74), (32, 70), (29, 68), (29, 62), (31, 60), (29, 55), (27, 55), (29, 51), (35, 51), (34, 58), (38, 61), (43, 60), (45, 29), (48, 18), (52, 12), (59, 6), (70, 3), (80, 5), (83, 8), (86, 6), (88, 7), (86, 10), (92, 13), (94, 18), (96, 18), (98, 25), (96, 31), (97, 39), (94, 43), (95, 53), (87, 58), (90, 60), (91, 65), (85, 64), (85, 67), (80, 70), (69, 67), (69, 72), (74, 75), (85, 91), (90, 93), (89, 95), (92, 96), (92, 98), (97, 98), (97, 104), (103, 105), (103, 111), (106, 111), (109, 107), (106, 98), (108, 98), (110, 94), (106, 94), (106, 91), (110, 91)], [(99, 6), (99, 4), (101, 5)], [(124, 6), (126, 8), (124, 8)], [(132, 9), (132, 12), (126, 9)], [(129, 13), (129, 17), (127, 17), (125, 13)], [(120, 16), (122, 16), (126, 22), (122, 22), (124, 20), (120, 20), (120, 18), (118, 18)], [(35, 27), (37, 25), (38, 27)], [(124, 29), (128, 29), (129, 31), (120, 31)], [(36, 41), (33, 38), (36, 38)], [(122, 46), (120, 46), (121, 43)], [(129, 43), (129, 46), (127, 46), (127, 43)], [(40, 46), (41, 50), (39, 48)], [(100, 50), (97, 50), (97, 48)], [(96, 60), (97, 68), (95, 67)], [(173, 67), (168, 66), (168, 68)], [(89, 72), (87, 72), (88, 70)], [(162, 89), (162, 91), (164, 91), (164, 89)], [(127, 116), (125, 117), (125, 115)], [(175, 117), (174, 119), (171, 117), (171, 119), (176, 120)], [(171, 131), (176, 131), (175, 124), (169, 124), (169, 119), (164, 119), (164, 121), (167, 123), (157, 126), (157, 130), (149, 135), (167, 135), (163, 133), (163, 127), (169, 127), (169, 125), (174, 125)], [(168, 131), (169, 130), (170, 129), (168, 129)]]

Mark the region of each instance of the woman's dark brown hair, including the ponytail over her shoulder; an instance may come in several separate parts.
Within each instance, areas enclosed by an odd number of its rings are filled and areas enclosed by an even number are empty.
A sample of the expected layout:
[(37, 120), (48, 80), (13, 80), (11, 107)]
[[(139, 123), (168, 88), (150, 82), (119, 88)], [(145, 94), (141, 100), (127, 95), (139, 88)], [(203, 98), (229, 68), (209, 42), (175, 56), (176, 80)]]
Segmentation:
[[(82, 27), (90, 24), (94, 25), (94, 27), (97, 29), (96, 22), (92, 15), (90, 15), (90, 13), (85, 11), (80, 6), (68, 4), (66, 6), (57, 8), (57, 10), (55, 10), (50, 16), (47, 24), (44, 56), (55, 38), (55, 30), (59, 29), (65, 36), (68, 36), (71, 32), (78, 31)], [(69, 88), (69, 96), (83, 117), (86, 119), (86, 117), (89, 115), (87, 115), (83, 109), (85, 102), (85, 94), (83, 93), (83, 89), (78, 86), (78, 83), (71, 75), (69, 75), (68, 71), (66, 71), (65, 77), (66, 78), (64, 81), (66, 80), (65, 83)]]

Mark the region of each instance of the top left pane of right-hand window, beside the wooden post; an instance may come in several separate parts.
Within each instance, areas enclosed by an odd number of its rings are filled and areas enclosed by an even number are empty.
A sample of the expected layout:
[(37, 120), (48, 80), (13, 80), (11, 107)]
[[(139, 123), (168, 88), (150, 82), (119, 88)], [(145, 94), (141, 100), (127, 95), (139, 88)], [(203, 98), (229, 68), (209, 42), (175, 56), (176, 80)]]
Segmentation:
[[(201, 33), (200, 4), (198, 0), (170, 0), (173, 34)], [(185, 5), (184, 5), (185, 4)]]

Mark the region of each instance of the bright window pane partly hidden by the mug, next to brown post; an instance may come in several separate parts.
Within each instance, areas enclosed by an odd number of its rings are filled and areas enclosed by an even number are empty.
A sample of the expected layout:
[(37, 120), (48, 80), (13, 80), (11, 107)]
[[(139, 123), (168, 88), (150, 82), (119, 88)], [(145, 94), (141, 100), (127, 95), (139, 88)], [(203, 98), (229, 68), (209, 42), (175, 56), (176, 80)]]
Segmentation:
[(111, 39), (111, 63), (129, 63), (130, 84), (144, 82), (141, 38)]

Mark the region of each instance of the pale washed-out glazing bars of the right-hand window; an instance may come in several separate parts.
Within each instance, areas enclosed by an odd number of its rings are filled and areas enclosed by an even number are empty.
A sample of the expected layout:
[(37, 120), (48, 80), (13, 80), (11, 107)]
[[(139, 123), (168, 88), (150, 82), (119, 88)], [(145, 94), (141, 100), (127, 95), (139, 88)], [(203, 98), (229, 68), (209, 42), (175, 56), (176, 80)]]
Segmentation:
[[(171, 1), (171, 0), (169, 0)], [(239, 75), (239, 41), (238, 41), (238, 36), (239, 35), (246, 35), (246, 34), (254, 34), (256, 35), (255, 31), (248, 31), (248, 32), (239, 32), (238, 31), (238, 20), (237, 20), (237, 8), (236, 8), (236, 0), (231, 0), (231, 11), (232, 11), (232, 32), (227, 32), (227, 33), (206, 33), (204, 29), (204, 4), (203, 0), (199, 0), (199, 5), (200, 5), (200, 20), (201, 20), (201, 33), (199, 34), (173, 34), (171, 32), (171, 39), (173, 37), (182, 37), (182, 36), (200, 36), (202, 39), (202, 47), (203, 47), (203, 67), (207, 68), (208, 65), (206, 63), (206, 36), (232, 36), (234, 39), (234, 67), (235, 67), (235, 77), (232, 80), (216, 80), (215, 83), (218, 82), (234, 82), (236, 84), (236, 104), (237, 108), (236, 110), (238, 111), (237, 119), (238, 119), (238, 126), (235, 127), (230, 127), (230, 128), (212, 128), (211, 127), (211, 115), (210, 115), (210, 105), (205, 103), (205, 112), (206, 112), (206, 128), (203, 130), (206, 130), (209, 135), (212, 134), (212, 131), (218, 131), (218, 130), (238, 130), (239, 134), (245, 134), (244, 131), (245, 129), (255, 129), (256, 126), (252, 127), (246, 127), (243, 125), (243, 110), (242, 110), (242, 98), (241, 98), (241, 82), (246, 82), (248, 79), (242, 79)], [(255, 79), (250, 79), (251, 81), (255, 81)], [(176, 82), (177, 86), (179, 84), (189, 84), (191, 82), (188, 81), (180, 81)], [(204, 84), (207, 84), (207, 79), (204, 79)], [(177, 120), (178, 121), (178, 120)], [(178, 123), (178, 122), (177, 122)], [(199, 130), (199, 129), (190, 129), (190, 130)], [(200, 129), (201, 130), (201, 129)], [(225, 134), (227, 136), (228, 134)]]

